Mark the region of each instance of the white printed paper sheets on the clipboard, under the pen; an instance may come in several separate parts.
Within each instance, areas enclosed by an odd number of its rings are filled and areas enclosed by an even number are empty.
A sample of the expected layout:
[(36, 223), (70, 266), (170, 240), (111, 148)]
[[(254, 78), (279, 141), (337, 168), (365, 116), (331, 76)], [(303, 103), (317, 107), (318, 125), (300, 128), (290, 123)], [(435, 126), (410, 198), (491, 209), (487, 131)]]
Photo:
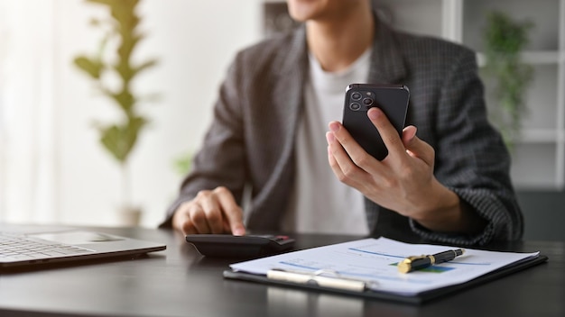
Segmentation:
[(233, 271), (266, 276), (269, 270), (306, 275), (333, 276), (366, 282), (374, 291), (416, 295), (424, 291), (468, 282), (497, 268), (540, 252), (515, 253), (465, 249), (465, 254), (449, 262), (411, 273), (400, 273), (398, 263), (410, 256), (432, 255), (448, 246), (409, 244), (386, 238), (355, 240), (304, 249), (230, 265)]

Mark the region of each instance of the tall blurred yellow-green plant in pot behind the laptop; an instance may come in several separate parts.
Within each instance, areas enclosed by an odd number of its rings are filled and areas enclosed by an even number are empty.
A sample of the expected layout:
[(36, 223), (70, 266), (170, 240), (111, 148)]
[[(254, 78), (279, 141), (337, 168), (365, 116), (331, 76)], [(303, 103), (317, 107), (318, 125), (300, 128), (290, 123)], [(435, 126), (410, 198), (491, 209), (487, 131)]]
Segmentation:
[[(86, 0), (86, 2), (105, 5), (110, 16), (104, 21), (96, 19), (92, 21), (94, 26), (105, 30), (105, 36), (100, 40), (98, 50), (94, 54), (77, 56), (74, 65), (94, 81), (97, 91), (107, 96), (121, 114), (117, 122), (95, 122), (95, 125), (103, 148), (116, 159), (121, 170), (120, 212), (126, 218), (130, 218), (123, 222), (137, 224), (141, 211), (131, 202), (128, 163), (139, 135), (149, 121), (139, 111), (140, 103), (144, 99), (134, 93), (132, 86), (134, 79), (144, 70), (155, 66), (157, 60), (146, 59), (142, 62), (132, 60), (134, 50), (144, 39), (144, 34), (138, 28), (142, 18), (135, 12), (139, 0)], [(111, 59), (106, 54), (107, 50), (110, 51), (108, 45), (110, 43), (116, 44), (116, 51)], [(115, 81), (110, 83), (108, 77), (116, 77), (117, 85)]]

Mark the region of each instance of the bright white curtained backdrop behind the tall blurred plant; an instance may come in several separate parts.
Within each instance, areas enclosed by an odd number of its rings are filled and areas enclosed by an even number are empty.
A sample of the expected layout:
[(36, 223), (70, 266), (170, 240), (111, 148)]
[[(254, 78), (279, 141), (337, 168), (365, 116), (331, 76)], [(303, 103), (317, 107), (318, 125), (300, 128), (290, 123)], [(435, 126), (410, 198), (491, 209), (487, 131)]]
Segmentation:
[[(151, 126), (129, 168), (133, 203), (153, 227), (181, 181), (173, 159), (197, 149), (227, 65), (261, 37), (263, 0), (142, 3), (148, 36), (135, 54), (160, 62), (135, 88), (162, 100), (143, 104)], [(0, 0), (0, 222), (120, 225), (119, 169), (93, 126), (119, 116), (72, 65), (96, 50), (103, 32), (89, 22), (107, 14), (86, 0)]]

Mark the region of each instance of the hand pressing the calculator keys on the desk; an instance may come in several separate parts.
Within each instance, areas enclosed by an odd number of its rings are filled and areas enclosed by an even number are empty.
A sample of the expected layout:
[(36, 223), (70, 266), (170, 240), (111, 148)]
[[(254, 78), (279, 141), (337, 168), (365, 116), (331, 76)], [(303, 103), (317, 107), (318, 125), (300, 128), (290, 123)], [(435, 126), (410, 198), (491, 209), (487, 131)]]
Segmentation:
[(244, 235), (243, 212), (231, 192), (223, 186), (203, 190), (177, 208), (172, 227), (183, 234), (226, 233)]

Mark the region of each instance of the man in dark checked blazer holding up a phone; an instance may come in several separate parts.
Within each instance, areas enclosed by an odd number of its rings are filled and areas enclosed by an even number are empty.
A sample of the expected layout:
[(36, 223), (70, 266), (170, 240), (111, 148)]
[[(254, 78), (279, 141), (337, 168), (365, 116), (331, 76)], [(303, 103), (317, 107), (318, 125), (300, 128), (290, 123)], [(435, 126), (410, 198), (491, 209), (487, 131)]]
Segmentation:
[[(509, 155), (486, 120), (474, 52), (396, 32), (368, 0), (287, 3), (301, 27), (236, 55), (162, 227), (520, 239)], [(401, 136), (367, 112), (389, 149), (382, 161), (340, 123), (351, 83), (411, 90)]]

